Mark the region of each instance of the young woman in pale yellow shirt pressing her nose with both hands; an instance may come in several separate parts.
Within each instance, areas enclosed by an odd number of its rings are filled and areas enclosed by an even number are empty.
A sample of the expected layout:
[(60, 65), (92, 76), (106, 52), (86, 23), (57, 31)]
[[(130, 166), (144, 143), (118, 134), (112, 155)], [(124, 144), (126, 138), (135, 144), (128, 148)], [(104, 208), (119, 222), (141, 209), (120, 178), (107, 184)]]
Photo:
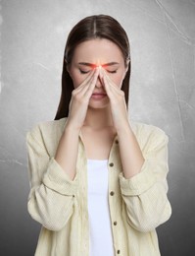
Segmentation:
[(121, 25), (81, 20), (65, 48), (55, 121), (27, 134), (28, 212), (38, 256), (158, 256), (169, 220), (168, 137), (128, 117), (129, 43)]

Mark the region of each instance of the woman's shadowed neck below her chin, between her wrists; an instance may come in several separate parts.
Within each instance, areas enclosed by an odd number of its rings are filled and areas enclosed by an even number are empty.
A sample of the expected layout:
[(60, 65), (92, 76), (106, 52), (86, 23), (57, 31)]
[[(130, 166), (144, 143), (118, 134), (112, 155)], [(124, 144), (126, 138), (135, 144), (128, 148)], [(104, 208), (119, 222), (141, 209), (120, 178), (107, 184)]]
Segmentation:
[(89, 126), (94, 130), (101, 130), (108, 126), (113, 126), (113, 118), (110, 107), (88, 108), (84, 121), (84, 126)]

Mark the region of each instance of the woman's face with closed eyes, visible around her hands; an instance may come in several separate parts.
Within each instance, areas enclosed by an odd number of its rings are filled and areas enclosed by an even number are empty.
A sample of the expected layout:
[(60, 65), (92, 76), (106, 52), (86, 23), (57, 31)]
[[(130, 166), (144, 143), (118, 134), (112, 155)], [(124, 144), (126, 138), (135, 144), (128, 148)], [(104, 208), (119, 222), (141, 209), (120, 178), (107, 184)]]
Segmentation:
[[(69, 68), (76, 89), (97, 66), (102, 66), (110, 79), (120, 89), (127, 71), (122, 51), (117, 44), (104, 38), (95, 38), (81, 42), (75, 47), (73, 60)], [(104, 86), (98, 77), (94, 93), (105, 93)], [(104, 107), (109, 102), (108, 96), (101, 100), (90, 98), (89, 105)]]

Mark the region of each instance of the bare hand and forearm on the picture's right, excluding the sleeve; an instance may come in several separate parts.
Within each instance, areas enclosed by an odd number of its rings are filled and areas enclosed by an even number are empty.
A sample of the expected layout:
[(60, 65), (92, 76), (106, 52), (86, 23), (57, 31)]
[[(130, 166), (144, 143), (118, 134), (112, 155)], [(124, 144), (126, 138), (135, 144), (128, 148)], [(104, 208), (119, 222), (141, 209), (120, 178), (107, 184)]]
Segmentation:
[(144, 158), (128, 121), (124, 93), (103, 69), (100, 71), (100, 76), (107, 96), (110, 98), (113, 122), (120, 142), (123, 176), (129, 179), (139, 173)]

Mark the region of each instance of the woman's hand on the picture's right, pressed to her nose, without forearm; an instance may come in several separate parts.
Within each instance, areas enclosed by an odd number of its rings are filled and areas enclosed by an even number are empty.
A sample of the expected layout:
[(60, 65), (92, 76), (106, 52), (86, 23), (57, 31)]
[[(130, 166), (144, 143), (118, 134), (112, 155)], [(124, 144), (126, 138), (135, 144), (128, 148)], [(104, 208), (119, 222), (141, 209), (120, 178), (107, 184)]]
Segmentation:
[(111, 112), (116, 130), (119, 132), (128, 125), (128, 113), (123, 91), (111, 80), (106, 71), (100, 67), (100, 78), (110, 99)]

